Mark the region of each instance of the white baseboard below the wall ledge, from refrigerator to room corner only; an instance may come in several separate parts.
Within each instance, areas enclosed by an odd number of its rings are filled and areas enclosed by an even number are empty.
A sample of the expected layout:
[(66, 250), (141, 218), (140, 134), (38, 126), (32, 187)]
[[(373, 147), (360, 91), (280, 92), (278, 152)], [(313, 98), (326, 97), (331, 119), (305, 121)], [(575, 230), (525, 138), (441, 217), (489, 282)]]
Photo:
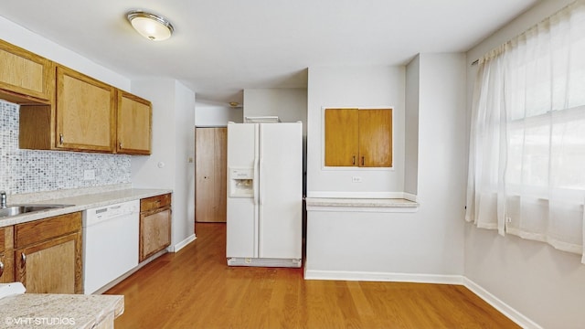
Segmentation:
[(305, 280), (394, 281), (416, 283), (462, 284), (462, 275), (410, 274), (362, 271), (304, 270)]

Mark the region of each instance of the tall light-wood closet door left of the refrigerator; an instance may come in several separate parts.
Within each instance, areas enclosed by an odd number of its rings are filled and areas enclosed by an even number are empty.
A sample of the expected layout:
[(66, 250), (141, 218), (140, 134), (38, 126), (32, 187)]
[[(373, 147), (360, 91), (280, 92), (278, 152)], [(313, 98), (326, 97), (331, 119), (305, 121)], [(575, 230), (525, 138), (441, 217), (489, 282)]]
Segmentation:
[(226, 221), (227, 128), (197, 128), (195, 220)]

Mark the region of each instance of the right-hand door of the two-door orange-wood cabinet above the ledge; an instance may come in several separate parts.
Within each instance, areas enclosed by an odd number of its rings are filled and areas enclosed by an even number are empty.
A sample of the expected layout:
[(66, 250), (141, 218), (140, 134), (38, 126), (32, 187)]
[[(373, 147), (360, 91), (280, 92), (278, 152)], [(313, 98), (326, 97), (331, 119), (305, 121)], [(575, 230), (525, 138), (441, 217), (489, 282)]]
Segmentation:
[(392, 166), (392, 110), (359, 111), (359, 166)]

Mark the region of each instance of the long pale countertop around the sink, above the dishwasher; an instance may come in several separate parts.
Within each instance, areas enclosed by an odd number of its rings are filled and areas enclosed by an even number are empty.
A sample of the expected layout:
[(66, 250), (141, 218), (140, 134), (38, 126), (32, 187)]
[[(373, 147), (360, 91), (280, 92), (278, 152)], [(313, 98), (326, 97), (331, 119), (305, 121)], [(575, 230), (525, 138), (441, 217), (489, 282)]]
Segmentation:
[[(171, 193), (169, 189), (146, 189), (146, 188), (123, 188), (115, 190), (103, 190), (99, 193), (78, 194), (63, 193), (59, 191), (37, 193), (32, 197), (27, 196), (9, 196), (8, 206), (18, 204), (59, 204), (71, 205), (69, 207), (60, 207), (48, 209), (9, 218), (0, 218), (0, 228), (28, 221), (49, 218), (53, 216), (69, 214), (76, 211), (83, 211), (94, 207), (104, 207), (121, 202), (132, 201), (150, 196), (160, 196)], [(83, 191), (81, 191), (83, 193)], [(44, 197), (44, 198), (43, 198)], [(30, 201), (29, 201), (30, 200)]]

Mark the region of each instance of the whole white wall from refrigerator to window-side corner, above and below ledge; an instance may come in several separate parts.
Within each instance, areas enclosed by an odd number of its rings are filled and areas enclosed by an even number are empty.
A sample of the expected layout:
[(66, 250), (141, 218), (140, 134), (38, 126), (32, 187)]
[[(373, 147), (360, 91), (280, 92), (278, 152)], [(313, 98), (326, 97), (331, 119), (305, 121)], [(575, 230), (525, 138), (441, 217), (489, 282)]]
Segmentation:
[[(311, 159), (320, 153), (321, 105), (387, 103), (403, 113), (405, 76), (419, 72), (420, 207), (415, 213), (308, 211), (307, 271), (378, 280), (402, 273), (412, 281), (420, 274), (434, 278), (463, 274), (464, 58), (463, 54), (422, 54), (409, 73), (401, 67), (309, 69), (309, 191), (346, 190), (344, 184), (324, 179), (331, 173)], [(404, 115), (395, 117), (397, 130), (402, 127), (400, 143), (404, 143), (404, 126)], [(399, 154), (397, 162), (403, 162), (403, 151)], [(345, 179), (346, 173), (337, 175)], [(378, 179), (370, 186), (401, 190), (403, 170), (393, 175), (394, 185), (390, 179)]]

